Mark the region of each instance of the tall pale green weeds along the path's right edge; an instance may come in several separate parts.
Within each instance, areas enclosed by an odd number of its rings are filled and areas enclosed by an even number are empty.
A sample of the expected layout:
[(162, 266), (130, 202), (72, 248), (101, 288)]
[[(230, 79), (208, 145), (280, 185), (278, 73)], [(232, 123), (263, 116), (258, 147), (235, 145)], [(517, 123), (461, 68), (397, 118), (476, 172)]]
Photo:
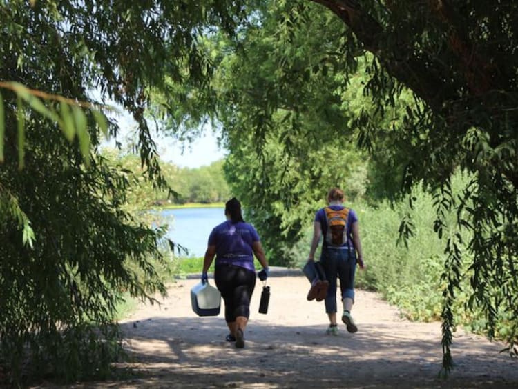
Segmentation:
[[(459, 192), (468, 179), (457, 174), (452, 182), (452, 190)], [(441, 319), (443, 305), (442, 292), (445, 281), (441, 279), (446, 255), (444, 253), (448, 237), (457, 232), (454, 227), (455, 215), (446, 215), (445, 233), (439, 239), (434, 232), (434, 220), (437, 215), (432, 195), (416, 188), (412, 197), (412, 207), (408, 201), (389, 203), (384, 201), (372, 206), (361, 201), (347, 203), (356, 211), (360, 223), (363, 257), (367, 268), (356, 272), (356, 287), (375, 290), (384, 299), (401, 310), (401, 314), (410, 320), (434, 321)], [(410, 217), (412, 233), (406, 241), (400, 241), (401, 221)], [(465, 233), (465, 232), (464, 232)], [(305, 230), (303, 239), (291, 248), (295, 266), (302, 267), (307, 259), (311, 243), (312, 226)], [(470, 237), (463, 237), (469, 241)], [(463, 249), (462, 281), (456, 290), (454, 315), (456, 323), (474, 332), (486, 332), (488, 323), (481, 308), (472, 303), (472, 272), (468, 264), (472, 256)], [(491, 298), (497, 299), (498, 290), (490, 292)], [(512, 332), (515, 318), (501, 306), (497, 312), (495, 334), (505, 338)]]

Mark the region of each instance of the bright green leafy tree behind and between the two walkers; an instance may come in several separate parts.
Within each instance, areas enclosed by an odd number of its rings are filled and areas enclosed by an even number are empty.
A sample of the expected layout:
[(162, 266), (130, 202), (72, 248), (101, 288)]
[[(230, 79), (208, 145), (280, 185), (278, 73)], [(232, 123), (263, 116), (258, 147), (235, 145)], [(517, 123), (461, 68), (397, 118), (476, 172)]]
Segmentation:
[[(169, 112), (166, 126), (178, 137), (191, 121), (196, 127), (207, 116), (222, 126), (233, 194), (243, 201), (247, 220), (258, 228), (274, 263), (287, 264), (294, 262), (289, 251), (312, 216), (308, 211), (329, 186), (343, 183), (350, 197), (365, 190), (354, 177), (365, 174), (365, 163), (350, 126), (351, 81), (327, 77), (340, 61), (328, 56), (343, 44), (339, 21), (331, 23), (331, 14), (314, 14), (307, 28), (271, 39), (287, 6), (267, 3), (264, 14), (251, 18), (236, 41), (224, 34), (204, 39), (205, 52), (218, 65), (211, 88), (171, 82), (169, 89), (188, 94), (189, 103)], [(329, 24), (335, 33), (323, 44), (319, 30)], [(279, 63), (293, 68), (280, 69)], [(360, 82), (358, 77), (353, 83)]]

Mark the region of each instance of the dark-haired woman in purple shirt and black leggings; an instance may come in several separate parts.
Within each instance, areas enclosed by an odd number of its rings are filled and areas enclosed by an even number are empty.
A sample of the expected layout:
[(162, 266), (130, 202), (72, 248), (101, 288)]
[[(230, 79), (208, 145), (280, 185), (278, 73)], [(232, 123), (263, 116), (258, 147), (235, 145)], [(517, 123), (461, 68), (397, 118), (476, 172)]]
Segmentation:
[(255, 228), (245, 223), (241, 204), (233, 197), (225, 204), (227, 221), (213, 228), (203, 262), (202, 282), (207, 282), (207, 270), (215, 259), (214, 279), (225, 303), (225, 321), (236, 348), (244, 347), (244, 328), (250, 315), (250, 299), (256, 286), (253, 255), (262, 265), (260, 280), (268, 277), (268, 262)]

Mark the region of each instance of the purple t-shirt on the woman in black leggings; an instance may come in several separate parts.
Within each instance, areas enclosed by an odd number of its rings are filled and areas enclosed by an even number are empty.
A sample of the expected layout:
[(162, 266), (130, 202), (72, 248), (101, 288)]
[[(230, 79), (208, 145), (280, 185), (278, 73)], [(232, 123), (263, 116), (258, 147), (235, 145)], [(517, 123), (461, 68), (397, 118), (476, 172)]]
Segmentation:
[(249, 223), (227, 220), (215, 226), (209, 235), (209, 246), (216, 246), (216, 266), (220, 263), (241, 266), (255, 271), (252, 243), (259, 241), (259, 235)]

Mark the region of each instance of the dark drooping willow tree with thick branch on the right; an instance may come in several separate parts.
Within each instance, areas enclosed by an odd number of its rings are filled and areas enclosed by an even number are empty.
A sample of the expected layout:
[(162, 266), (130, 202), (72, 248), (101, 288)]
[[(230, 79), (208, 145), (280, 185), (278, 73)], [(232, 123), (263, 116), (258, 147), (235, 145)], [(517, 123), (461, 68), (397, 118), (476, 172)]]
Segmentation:
[[(444, 366), (450, 368), (451, 313), (461, 278), (461, 248), (474, 255), (473, 301), (486, 310), (488, 335), (499, 308), (517, 316), (517, 186), (518, 149), (517, 45), (518, 4), (514, 1), (319, 1), (345, 23), (354, 39), (349, 47), (374, 55), (370, 93), (376, 104), (394, 106), (401, 85), (410, 88), (416, 104), (408, 106), (400, 128), (370, 126), (364, 114), (363, 143), (380, 136), (393, 143), (405, 161), (403, 191), (423, 180), (437, 193), (439, 236), (443, 215), (457, 209), (458, 229), (472, 232), (469, 242), (448, 232), (449, 258), (443, 277)], [(397, 147), (399, 144), (399, 147)], [(375, 148), (373, 148), (375, 150)], [(463, 197), (452, 197), (450, 178), (456, 168), (474, 179)], [(515, 321), (508, 341), (517, 340)]]

